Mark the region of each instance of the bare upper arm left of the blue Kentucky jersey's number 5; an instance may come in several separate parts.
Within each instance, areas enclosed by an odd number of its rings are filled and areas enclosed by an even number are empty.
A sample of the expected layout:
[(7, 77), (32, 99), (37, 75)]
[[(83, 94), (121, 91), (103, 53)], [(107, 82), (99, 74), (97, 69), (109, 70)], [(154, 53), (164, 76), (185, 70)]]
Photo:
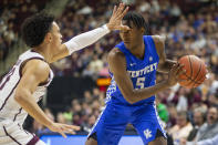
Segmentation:
[(126, 60), (122, 52), (110, 52), (108, 64), (110, 70), (114, 74), (114, 79), (118, 89), (125, 99), (129, 99), (133, 93), (133, 83), (126, 71)]

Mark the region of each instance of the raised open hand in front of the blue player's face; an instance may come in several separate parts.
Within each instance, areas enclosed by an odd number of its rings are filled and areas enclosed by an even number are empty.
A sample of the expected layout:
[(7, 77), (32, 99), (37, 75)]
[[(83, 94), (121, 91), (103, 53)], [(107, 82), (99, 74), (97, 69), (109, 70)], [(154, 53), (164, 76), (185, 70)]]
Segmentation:
[(128, 11), (128, 7), (125, 8), (124, 3), (120, 3), (118, 8), (115, 6), (112, 17), (106, 24), (110, 30), (129, 30), (127, 25), (122, 24), (123, 17)]

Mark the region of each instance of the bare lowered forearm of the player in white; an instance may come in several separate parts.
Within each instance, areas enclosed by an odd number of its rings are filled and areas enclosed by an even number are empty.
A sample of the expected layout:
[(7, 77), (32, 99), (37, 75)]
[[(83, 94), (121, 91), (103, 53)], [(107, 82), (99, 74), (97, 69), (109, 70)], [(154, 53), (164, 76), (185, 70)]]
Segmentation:
[(14, 99), (21, 105), (21, 107), (39, 123), (43, 124), (44, 126), (50, 126), (53, 123), (53, 121), (51, 121), (40, 108), (30, 92), (23, 91), (22, 93), (18, 93)]

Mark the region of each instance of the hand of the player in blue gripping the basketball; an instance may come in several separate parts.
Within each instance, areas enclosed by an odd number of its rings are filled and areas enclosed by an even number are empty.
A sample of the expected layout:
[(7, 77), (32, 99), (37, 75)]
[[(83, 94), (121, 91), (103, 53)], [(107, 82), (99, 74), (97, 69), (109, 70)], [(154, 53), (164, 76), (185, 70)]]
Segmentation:
[(167, 80), (167, 84), (169, 86), (173, 86), (177, 84), (178, 82), (184, 81), (179, 79), (179, 75), (186, 72), (186, 70), (184, 70), (183, 68), (184, 68), (184, 64), (179, 64), (179, 63), (176, 63), (173, 65), (172, 70), (169, 71), (168, 80)]

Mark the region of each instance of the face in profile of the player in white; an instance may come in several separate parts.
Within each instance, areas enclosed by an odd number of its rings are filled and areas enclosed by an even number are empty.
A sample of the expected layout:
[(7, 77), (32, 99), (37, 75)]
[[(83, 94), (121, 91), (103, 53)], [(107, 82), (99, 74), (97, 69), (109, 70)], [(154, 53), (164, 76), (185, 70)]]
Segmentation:
[(61, 46), (61, 42), (62, 42), (62, 34), (60, 32), (60, 28), (56, 24), (56, 22), (53, 22), (51, 30), (51, 45), (52, 48), (59, 48)]

